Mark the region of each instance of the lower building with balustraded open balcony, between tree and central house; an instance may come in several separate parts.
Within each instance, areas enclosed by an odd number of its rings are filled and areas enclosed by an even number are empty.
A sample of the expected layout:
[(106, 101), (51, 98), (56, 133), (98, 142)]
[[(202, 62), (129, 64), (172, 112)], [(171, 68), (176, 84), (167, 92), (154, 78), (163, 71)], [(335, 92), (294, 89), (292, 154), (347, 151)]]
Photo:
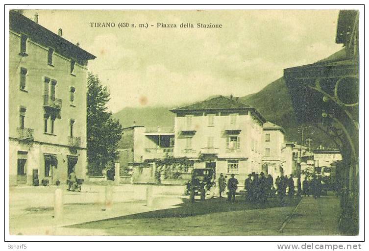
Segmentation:
[(174, 128), (163, 126), (123, 128), (119, 148), (121, 171), (140, 166), (143, 162), (173, 156)]

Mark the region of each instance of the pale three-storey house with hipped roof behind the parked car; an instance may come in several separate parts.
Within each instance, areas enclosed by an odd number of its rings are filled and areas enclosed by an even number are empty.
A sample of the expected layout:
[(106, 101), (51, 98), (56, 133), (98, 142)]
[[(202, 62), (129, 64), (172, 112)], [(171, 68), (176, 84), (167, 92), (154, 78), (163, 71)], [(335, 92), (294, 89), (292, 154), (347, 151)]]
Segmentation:
[(261, 172), (264, 117), (238, 98), (218, 96), (171, 110), (176, 114), (174, 157), (212, 168), (216, 178)]

